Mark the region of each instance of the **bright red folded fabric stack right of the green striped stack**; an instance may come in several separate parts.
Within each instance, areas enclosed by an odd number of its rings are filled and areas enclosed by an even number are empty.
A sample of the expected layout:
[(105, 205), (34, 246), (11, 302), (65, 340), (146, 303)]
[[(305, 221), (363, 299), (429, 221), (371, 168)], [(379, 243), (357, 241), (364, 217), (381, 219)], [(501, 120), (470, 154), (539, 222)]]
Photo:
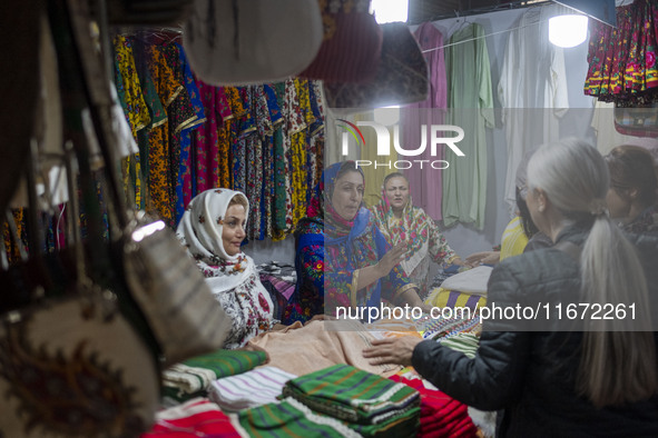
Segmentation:
[(419, 437), (477, 437), (478, 428), (469, 417), (467, 405), (439, 391), (425, 388), (421, 379), (400, 376), (391, 380), (403, 382), (421, 395), (421, 427)]

